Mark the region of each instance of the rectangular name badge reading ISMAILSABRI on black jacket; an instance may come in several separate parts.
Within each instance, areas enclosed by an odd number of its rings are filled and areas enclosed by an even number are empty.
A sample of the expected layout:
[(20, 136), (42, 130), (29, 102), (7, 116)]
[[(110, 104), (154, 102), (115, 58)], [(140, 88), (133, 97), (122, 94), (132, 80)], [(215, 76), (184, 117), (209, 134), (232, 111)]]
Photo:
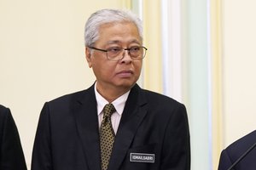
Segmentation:
[(131, 153), (130, 161), (154, 163), (154, 154)]

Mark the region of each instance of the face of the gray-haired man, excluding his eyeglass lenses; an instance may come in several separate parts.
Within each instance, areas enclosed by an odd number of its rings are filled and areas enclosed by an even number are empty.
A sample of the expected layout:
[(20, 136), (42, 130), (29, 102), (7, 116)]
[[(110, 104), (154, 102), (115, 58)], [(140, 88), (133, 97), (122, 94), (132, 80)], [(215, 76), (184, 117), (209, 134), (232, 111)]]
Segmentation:
[[(94, 44), (95, 48), (131, 48), (142, 46), (142, 39), (137, 31), (137, 26), (130, 22), (105, 24), (100, 27), (99, 39)], [(131, 59), (128, 51), (119, 61), (107, 59), (107, 54), (93, 50), (90, 53), (86, 48), (86, 59), (96, 75), (97, 88), (128, 90), (140, 76), (143, 60)]]

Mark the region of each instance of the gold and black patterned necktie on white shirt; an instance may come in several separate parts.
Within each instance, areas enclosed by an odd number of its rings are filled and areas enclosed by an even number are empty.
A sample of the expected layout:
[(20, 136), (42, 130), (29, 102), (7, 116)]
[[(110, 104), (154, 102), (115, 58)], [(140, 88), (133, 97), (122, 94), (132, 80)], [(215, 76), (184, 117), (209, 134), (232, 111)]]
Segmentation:
[(105, 105), (103, 109), (103, 120), (100, 127), (100, 144), (101, 144), (101, 156), (102, 156), (102, 170), (108, 169), (108, 162), (112, 153), (114, 132), (111, 123), (111, 115), (115, 111), (112, 104)]

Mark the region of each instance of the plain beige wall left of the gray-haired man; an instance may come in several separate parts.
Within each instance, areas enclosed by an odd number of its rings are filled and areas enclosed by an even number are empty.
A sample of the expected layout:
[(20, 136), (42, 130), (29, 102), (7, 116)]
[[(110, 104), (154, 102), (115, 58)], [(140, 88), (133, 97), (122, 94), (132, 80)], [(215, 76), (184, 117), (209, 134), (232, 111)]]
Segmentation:
[(95, 80), (84, 59), (85, 20), (96, 9), (126, 2), (0, 1), (0, 104), (13, 113), (28, 167), (44, 102)]

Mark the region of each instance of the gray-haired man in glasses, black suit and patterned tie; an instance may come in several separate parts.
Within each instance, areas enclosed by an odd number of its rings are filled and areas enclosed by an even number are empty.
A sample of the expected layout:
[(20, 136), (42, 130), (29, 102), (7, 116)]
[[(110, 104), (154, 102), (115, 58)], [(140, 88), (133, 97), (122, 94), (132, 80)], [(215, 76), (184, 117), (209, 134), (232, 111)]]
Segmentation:
[(44, 105), (32, 170), (189, 170), (184, 105), (136, 83), (147, 50), (141, 20), (102, 9), (84, 32), (96, 82)]

